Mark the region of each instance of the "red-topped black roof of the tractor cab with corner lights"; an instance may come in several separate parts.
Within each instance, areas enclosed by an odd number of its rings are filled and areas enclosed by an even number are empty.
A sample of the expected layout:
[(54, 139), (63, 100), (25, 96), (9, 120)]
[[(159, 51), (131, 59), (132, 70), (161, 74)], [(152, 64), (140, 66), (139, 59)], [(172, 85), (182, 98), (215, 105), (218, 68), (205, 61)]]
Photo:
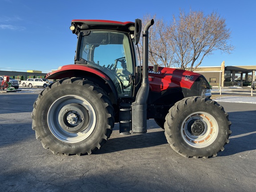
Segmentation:
[(73, 33), (78, 33), (81, 30), (114, 30), (123, 31), (134, 34), (134, 22), (112, 21), (112, 20), (72, 20), (71, 25), (75, 27)]

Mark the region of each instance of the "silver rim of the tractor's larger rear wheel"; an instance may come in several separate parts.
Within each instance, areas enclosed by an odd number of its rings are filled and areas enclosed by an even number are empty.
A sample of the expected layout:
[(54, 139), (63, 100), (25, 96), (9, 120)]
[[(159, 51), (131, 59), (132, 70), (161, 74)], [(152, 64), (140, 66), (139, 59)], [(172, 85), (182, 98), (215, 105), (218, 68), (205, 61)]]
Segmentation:
[(80, 96), (63, 96), (49, 108), (47, 122), (57, 139), (77, 143), (92, 134), (96, 126), (96, 112)]

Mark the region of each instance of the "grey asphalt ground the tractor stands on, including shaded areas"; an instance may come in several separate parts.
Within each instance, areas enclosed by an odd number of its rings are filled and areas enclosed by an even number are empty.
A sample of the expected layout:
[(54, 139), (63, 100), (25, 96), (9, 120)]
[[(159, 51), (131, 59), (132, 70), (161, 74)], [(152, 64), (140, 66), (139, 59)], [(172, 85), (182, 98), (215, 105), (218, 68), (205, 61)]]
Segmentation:
[(2, 192), (256, 190), (256, 104), (219, 102), (232, 121), (232, 135), (225, 150), (209, 159), (177, 154), (154, 120), (148, 120), (148, 133), (142, 135), (120, 135), (115, 124), (100, 150), (65, 156), (53, 155), (36, 140), (31, 112), (37, 96), (0, 93)]

